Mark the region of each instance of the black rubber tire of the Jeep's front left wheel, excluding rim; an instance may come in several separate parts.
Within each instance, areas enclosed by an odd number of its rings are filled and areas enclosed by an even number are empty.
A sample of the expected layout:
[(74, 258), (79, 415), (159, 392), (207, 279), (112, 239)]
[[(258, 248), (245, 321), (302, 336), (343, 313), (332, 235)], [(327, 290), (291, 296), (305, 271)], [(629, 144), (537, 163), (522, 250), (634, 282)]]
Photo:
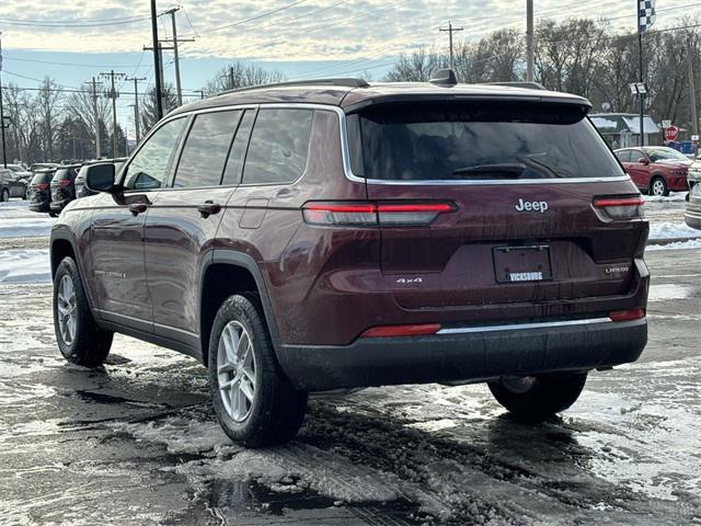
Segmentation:
[[(68, 276), (72, 282), (74, 289), (74, 312), (77, 315), (74, 334), (70, 341), (64, 338), (61, 328), (59, 327), (61, 322), (59, 320), (61, 316), (59, 313), (59, 288), (65, 276)], [(64, 301), (61, 301), (60, 305), (61, 307), (66, 306)], [(72, 305), (72, 302), (69, 305)], [(114, 333), (97, 327), (90, 306), (88, 305), (88, 298), (83, 290), (78, 265), (72, 258), (68, 256), (64, 258), (59, 263), (56, 270), (56, 276), (54, 277), (54, 329), (56, 331), (58, 348), (64, 357), (72, 364), (83, 367), (97, 367), (104, 363), (107, 354), (110, 354)]]

